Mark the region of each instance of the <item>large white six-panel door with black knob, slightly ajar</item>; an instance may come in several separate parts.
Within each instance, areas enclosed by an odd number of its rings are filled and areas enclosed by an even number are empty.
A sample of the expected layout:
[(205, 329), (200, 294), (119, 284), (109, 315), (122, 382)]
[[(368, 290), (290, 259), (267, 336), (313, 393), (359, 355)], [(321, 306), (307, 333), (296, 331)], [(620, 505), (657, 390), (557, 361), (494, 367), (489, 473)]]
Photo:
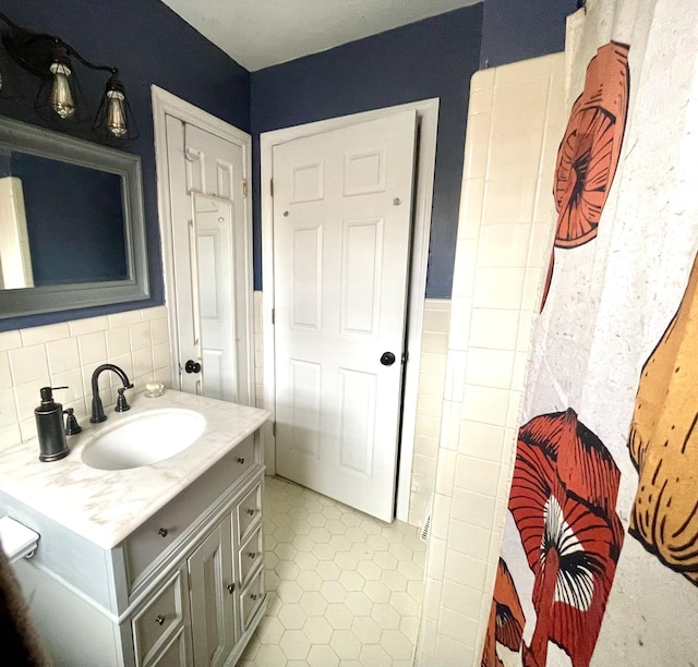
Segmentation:
[(395, 502), (416, 129), (405, 111), (274, 148), (277, 472), (384, 521)]

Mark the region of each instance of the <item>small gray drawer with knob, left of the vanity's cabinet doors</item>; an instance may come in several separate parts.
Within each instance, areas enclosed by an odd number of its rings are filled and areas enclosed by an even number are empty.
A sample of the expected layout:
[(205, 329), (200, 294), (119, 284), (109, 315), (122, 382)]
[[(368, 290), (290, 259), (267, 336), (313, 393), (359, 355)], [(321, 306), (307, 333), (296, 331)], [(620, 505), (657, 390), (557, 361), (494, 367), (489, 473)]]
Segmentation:
[(133, 617), (133, 643), (137, 665), (148, 662), (164, 642), (183, 627), (183, 574), (178, 570), (163, 590)]

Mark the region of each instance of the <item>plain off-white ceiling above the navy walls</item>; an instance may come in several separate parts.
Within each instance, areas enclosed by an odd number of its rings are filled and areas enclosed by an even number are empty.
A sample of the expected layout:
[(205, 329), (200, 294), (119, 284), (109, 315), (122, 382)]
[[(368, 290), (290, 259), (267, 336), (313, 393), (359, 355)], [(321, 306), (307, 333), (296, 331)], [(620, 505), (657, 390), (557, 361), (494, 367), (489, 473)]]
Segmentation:
[(482, 0), (163, 0), (250, 72)]

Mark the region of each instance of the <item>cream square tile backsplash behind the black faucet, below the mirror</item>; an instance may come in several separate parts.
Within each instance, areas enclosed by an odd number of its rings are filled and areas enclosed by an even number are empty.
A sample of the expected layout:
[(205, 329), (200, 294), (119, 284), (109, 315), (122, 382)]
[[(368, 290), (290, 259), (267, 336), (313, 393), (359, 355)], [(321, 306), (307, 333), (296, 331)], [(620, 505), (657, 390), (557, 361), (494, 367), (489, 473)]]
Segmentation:
[[(89, 411), (93, 371), (117, 364), (135, 388), (159, 379), (171, 384), (167, 308), (158, 306), (76, 319), (0, 333), (0, 447), (36, 436), (34, 408), (41, 387), (64, 387), (55, 398), (74, 408), (79, 421)], [(99, 391), (105, 405), (116, 401), (120, 380), (103, 373)], [(128, 395), (127, 395), (128, 396)]]

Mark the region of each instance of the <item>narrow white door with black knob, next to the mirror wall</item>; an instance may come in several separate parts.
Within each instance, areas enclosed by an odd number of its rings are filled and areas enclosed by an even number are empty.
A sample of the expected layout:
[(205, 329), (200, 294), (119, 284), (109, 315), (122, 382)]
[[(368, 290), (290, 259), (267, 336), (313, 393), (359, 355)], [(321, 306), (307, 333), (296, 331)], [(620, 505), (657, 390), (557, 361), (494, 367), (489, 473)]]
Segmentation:
[(180, 388), (249, 403), (242, 147), (172, 117), (167, 145)]

